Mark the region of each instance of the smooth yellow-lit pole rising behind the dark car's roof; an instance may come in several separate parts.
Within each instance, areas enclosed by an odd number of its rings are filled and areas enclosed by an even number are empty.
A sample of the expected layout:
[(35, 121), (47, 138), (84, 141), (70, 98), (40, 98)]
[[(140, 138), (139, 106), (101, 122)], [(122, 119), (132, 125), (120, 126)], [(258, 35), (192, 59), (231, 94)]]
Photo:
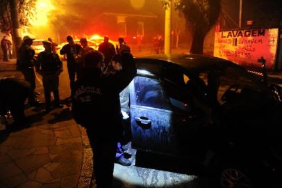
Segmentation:
[(171, 48), (171, 35), (172, 35), (172, 0), (168, 1), (167, 8), (165, 9), (165, 55), (172, 54)]

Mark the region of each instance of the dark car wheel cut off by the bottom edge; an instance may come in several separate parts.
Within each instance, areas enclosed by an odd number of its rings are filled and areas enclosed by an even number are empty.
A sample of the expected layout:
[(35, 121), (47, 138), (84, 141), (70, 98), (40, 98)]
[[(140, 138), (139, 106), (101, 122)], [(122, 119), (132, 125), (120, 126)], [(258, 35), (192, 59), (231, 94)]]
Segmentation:
[(251, 188), (251, 179), (247, 173), (237, 168), (223, 169), (220, 174), (222, 188)]

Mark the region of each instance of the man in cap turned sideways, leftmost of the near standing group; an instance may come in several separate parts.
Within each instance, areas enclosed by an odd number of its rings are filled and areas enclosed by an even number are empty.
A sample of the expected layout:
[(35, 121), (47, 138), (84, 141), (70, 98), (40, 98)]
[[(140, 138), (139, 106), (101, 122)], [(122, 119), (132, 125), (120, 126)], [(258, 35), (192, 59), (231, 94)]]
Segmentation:
[[(34, 38), (30, 38), (29, 36), (24, 36), (22, 45), (19, 47), (17, 51), (17, 69), (22, 71), (24, 75), (24, 79), (31, 84), (31, 88), (35, 90), (35, 72), (33, 69), (34, 66), (34, 54), (35, 51), (31, 47), (33, 44)], [(35, 95), (31, 95), (28, 97), (28, 102), (31, 106), (35, 106), (39, 104), (38, 100), (35, 100)]]

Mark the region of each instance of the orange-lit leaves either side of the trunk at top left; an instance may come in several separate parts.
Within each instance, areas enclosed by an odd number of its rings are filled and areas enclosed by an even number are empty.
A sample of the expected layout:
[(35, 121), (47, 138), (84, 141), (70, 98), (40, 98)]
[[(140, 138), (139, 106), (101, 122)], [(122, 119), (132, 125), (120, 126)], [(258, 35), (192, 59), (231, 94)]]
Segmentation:
[[(35, 3), (36, 0), (18, 0), (17, 10), (21, 26), (29, 25), (29, 19), (35, 14)], [(10, 33), (12, 30), (10, 0), (0, 0), (0, 29), (2, 33)]]

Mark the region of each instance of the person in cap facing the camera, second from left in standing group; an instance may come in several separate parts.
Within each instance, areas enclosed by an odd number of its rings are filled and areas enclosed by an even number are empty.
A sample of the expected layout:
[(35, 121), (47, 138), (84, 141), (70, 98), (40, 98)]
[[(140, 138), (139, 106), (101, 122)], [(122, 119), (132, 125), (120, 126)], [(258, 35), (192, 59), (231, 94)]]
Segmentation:
[(53, 53), (52, 43), (49, 40), (43, 42), (44, 51), (38, 54), (38, 63), (36, 65), (36, 71), (42, 75), (42, 82), (44, 87), (45, 97), (45, 111), (51, 109), (51, 91), (55, 98), (55, 107), (61, 107), (59, 97), (59, 75), (63, 72), (63, 63), (60, 61), (58, 54)]

